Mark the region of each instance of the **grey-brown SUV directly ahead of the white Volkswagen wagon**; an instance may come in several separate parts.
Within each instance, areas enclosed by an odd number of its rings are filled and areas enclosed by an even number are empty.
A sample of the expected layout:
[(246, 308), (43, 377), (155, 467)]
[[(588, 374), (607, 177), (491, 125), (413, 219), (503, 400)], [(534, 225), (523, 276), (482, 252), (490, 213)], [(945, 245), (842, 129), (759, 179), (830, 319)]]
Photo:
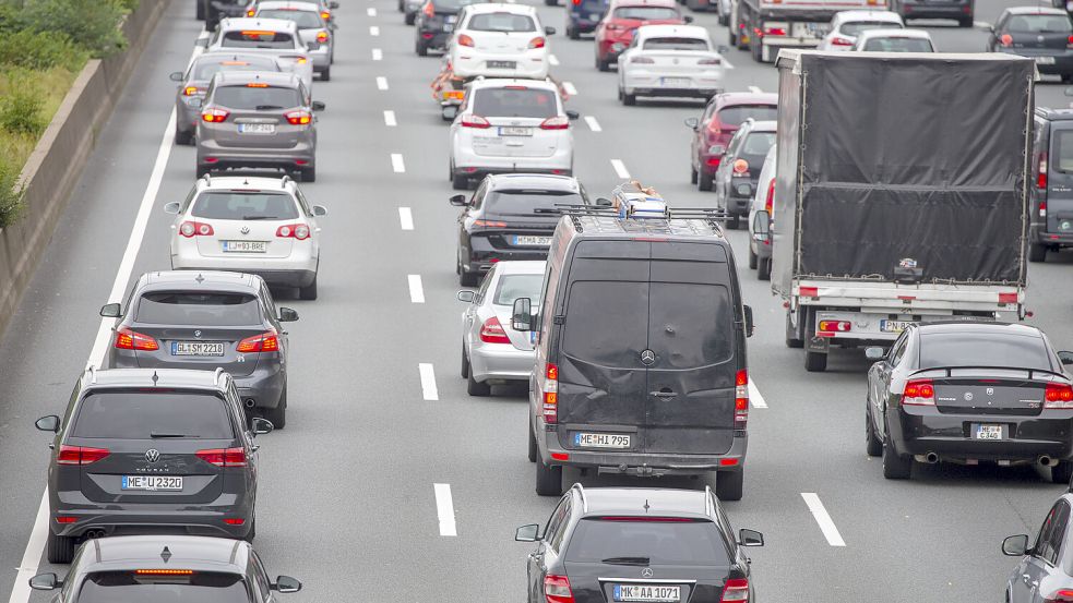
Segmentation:
[(217, 73), (198, 123), (198, 177), (228, 168), (275, 168), (314, 181), (313, 111), (323, 109), (293, 73)]

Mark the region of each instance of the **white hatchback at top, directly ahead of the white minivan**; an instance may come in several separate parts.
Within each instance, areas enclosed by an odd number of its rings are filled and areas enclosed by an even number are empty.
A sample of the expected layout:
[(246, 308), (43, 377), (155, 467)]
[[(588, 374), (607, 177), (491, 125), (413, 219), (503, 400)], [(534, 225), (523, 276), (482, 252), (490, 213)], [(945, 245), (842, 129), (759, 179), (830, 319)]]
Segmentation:
[(553, 27), (540, 24), (525, 4), (484, 3), (463, 7), (448, 43), (451, 69), (458, 77), (548, 76), (548, 38)]

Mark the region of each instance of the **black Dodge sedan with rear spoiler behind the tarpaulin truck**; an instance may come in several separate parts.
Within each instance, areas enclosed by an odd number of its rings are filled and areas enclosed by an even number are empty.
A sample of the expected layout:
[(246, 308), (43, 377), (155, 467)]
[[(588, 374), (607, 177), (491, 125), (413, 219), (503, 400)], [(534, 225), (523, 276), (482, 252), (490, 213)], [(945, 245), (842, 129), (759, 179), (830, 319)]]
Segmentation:
[(1073, 475), (1073, 387), (1038, 328), (1003, 323), (910, 325), (868, 371), (868, 454), (883, 477), (908, 479), (914, 461), (1039, 463), (1056, 483)]

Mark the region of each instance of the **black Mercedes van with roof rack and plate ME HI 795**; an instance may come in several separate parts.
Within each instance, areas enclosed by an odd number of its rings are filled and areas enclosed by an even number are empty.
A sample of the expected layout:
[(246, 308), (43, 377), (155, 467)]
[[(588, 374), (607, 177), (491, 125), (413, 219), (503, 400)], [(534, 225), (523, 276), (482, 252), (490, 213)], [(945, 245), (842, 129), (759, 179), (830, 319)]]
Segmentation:
[(558, 496), (562, 467), (574, 466), (718, 471), (719, 498), (741, 498), (752, 310), (719, 225), (673, 216), (563, 216), (540, 307), (514, 303), (514, 328), (536, 331), (528, 439), (537, 494)]

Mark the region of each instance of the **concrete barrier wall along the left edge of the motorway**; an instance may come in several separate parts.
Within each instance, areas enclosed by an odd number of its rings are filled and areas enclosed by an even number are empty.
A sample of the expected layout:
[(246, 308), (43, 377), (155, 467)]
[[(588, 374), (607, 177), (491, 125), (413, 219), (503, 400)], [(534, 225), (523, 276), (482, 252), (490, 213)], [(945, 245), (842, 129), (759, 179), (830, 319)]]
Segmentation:
[(14, 225), (0, 230), (0, 335), (29, 285), (97, 134), (168, 1), (142, 0), (122, 25), (129, 40), (127, 50), (85, 65), (26, 161), (20, 176), (26, 191), (26, 212)]

